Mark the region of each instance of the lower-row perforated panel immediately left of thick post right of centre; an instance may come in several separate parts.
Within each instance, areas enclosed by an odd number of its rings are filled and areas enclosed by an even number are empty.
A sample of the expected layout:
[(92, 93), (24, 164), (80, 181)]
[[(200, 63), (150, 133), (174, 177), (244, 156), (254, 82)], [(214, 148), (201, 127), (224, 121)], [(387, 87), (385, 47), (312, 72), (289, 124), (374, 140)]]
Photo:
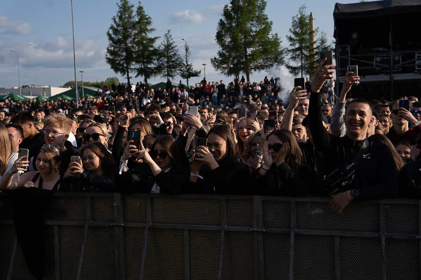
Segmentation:
[(253, 274), (253, 233), (226, 232), (223, 244), (221, 279), (253, 279)]

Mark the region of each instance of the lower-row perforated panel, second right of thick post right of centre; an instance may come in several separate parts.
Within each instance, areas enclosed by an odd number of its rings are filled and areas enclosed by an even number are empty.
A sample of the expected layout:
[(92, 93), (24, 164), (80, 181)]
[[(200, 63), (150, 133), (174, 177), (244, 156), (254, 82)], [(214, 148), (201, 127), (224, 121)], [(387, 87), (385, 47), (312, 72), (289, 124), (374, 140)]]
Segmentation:
[(335, 279), (333, 237), (295, 235), (294, 279)]

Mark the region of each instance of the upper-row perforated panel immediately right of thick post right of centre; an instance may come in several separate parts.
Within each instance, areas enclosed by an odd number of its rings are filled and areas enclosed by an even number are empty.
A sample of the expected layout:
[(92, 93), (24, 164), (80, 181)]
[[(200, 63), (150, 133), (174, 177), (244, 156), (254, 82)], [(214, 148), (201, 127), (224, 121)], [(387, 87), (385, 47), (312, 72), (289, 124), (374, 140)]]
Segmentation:
[(289, 228), (291, 217), (288, 202), (263, 201), (263, 226)]

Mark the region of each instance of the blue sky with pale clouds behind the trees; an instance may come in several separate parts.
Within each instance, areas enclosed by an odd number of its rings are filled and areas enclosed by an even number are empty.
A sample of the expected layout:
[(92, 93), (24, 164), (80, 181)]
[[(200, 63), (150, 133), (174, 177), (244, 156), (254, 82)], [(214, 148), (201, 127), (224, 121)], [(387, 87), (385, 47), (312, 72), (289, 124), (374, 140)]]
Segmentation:
[[(117, 0), (74, 0), (76, 67), (78, 80), (80, 70), (84, 71), (83, 80), (104, 80), (110, 76), (119, 77), (105, 62), (105, 49), (108, 44), (106, 32), (111, 18), (116, 14)], [(138, 1), (131, 1), (135, 6)], [(215, 33), (223, 5), (228, 0), (147, 0), (141, 1), (145, 11), (152, 17), (157, 36), (163, 36), (167, 29), (182, 50), (187, 40), (192, 52), (192, 62), (202, 69), (207, 63), (207, 80), (224, 79), (210, 65), (218, 46)], [(352, 3), (358, 0), (267, 0), (266, 13), (273, 21), (273, 32), (279, 34), (282, 44), (287, 45), (291, 17), (297, 14), (302, 4), (308, 13), (313, 12), (315, 25), (326, 32), (333, 40), (333, 9), (335, 2)], [(1, 0), (0, 9), (0, 87), (10, 88), (18, 85), (16, 54), (20, 56), (20, 83), (61, 86), (74, 79), (72, 18), (70, 0)], [(203, 74), (203, 71), (202, 71)], [(265, 75), (289, 74), (285, 69), (272, 73), (261, 72), (252, 75), (252, 81), (261, 81)], [(133, 82), (142, 78), (133, 78)], [(152, 78), (155, 83), (163, 78)], [(179, 81), (180, 77), (173, 79)], [(200, 78), (193, 78), (192, 82)], [(184, 82), (184, 81), (183, 81)]]

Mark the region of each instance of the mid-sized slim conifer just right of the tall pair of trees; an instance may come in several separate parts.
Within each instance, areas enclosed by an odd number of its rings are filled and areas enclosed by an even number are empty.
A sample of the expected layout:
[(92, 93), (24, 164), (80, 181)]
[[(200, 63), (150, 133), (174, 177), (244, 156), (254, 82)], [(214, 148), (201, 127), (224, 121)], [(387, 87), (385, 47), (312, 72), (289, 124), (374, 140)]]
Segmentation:
[(158, 60), (161, 77), (174, 78), (180, 69), (182, 61), (179, 49), (171, 35), (171, 29), (164, 34), (164, 39), (160, 44), (160, 57)]

